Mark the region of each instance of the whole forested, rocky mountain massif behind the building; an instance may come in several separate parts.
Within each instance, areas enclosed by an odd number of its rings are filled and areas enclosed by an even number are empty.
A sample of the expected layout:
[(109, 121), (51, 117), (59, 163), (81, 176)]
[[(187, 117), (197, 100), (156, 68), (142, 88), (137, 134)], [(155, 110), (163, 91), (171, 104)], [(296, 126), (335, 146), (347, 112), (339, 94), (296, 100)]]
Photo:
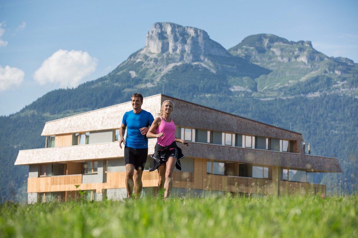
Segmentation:
[(310, 41), (259, 34), (225, 50), (204, 30), (155, 23), (145, 46), (108, 75), (48, 92), (0, 117), (0, 161), (7, 168), (0, 174), (1, 199), (26, 191), (28, 168), (13, 164), (19, 150), (44, 147), (45, 121), (122, 103), (134, 92), (164, 93), (300, 132), (312, 154), (338, 157), (344, 171), (308, 181), (352, 192), (358, 186), (357, 65), (316, 51)]

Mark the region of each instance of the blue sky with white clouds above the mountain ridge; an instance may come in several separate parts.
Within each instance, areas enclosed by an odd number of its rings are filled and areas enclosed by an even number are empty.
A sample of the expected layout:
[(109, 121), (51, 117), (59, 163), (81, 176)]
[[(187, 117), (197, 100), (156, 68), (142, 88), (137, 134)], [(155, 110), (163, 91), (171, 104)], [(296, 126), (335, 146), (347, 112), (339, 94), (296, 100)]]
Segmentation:
[(356, 0), (1, 0), (0, 115), (108, 74), (155, 22), (203, 29), (226, 49), (261, 33), (310, 40), (357, 63), (357, 12)]

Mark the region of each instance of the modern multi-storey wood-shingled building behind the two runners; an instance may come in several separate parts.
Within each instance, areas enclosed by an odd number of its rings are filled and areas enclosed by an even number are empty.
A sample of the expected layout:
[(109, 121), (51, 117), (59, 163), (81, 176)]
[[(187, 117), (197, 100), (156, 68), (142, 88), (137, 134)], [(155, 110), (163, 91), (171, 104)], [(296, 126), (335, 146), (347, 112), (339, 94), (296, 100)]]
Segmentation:
[[(337, 158), (306, 155), (300, 133), (165, 95), (144, 98), (155, 116), (164, 100), (182, 147), (182, 171), (174, 171), (172, 196), (208, 194), (326, 193), (307, 173), (342, 172)], [(28, 202), (75, 199), (78, 191), (101, 201), (126, 197), (124, 148), (118, 145), (122, 116), (131, 102), (45, 123), (45, 148), (19, 151), (15, 165), (29, 166)], [(156, 138), (149, 139), (149, 154)], [(148, 159), (146, 169), (149, 168)], [(143, 195), (157, 191), (158, 174), (145, 170)]]

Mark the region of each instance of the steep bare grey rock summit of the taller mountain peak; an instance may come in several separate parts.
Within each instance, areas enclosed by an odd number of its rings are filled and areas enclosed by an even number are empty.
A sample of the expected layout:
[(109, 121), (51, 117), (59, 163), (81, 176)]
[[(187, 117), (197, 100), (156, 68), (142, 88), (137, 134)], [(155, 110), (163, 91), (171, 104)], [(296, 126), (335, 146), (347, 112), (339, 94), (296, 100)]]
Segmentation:
[(202, 62), (205, 56), (231, 55), (204, 30), (170, 22), (156, 22), (146, 37), (146, 47), (154, 54), (179, 54), (187, 63)]

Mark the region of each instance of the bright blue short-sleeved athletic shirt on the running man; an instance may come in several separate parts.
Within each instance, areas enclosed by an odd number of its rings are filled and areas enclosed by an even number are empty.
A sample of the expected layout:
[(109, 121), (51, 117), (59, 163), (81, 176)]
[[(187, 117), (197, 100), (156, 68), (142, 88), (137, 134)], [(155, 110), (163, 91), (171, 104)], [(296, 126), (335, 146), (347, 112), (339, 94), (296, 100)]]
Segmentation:
[(127, 126), (127, 136), (125, 146), (144, 149), (148, 148), (148, 138), (139, 131), (142, 127), (149, 127), (154, 121), (153, 115), (142, 109), (140, 113), (133, 110), (124, 113), (122, 123)]

